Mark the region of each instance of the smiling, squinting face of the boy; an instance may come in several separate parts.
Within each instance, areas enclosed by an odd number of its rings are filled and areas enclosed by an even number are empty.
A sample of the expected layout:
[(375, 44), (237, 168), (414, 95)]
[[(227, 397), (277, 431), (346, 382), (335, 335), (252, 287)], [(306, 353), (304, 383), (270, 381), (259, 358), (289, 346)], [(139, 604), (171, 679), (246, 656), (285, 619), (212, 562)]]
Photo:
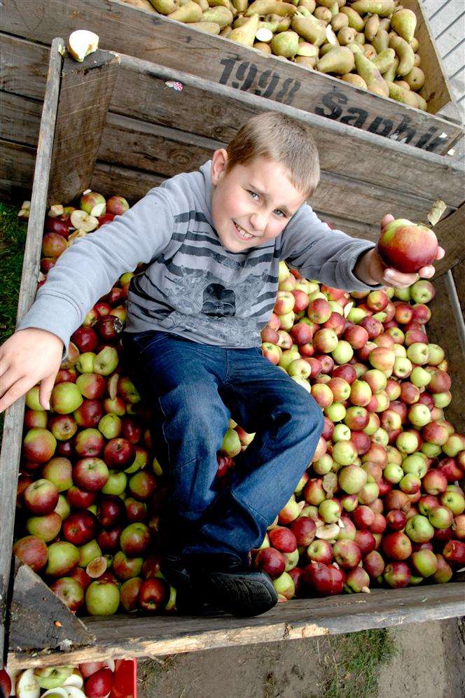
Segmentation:
[(228, 153), (211, 161), (211, 216), (221, 244), (243, 252), (275, 239), (305, 202), (284, 165), (256, 158), (226, 172)]

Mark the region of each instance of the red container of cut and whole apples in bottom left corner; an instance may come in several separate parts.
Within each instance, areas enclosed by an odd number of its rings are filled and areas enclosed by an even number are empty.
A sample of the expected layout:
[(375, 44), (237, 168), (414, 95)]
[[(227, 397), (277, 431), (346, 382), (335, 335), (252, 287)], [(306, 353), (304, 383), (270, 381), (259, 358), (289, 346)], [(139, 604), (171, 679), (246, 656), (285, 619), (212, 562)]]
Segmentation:
[(18, 673), (0, 671), (2, 695), (17, 698), (132, 698), (124, 659), (79, 666), (43, 666)]

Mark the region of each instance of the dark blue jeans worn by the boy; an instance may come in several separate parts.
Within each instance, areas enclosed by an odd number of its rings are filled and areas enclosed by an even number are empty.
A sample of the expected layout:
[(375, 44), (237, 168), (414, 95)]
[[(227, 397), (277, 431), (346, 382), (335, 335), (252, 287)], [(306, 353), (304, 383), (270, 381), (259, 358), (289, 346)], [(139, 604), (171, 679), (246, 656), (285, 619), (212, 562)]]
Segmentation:
[[(125, 333), (123, 344), (153, 414), (170, 510), (195, 531), (184, 553), (244, 559), (309, 466), (323, 430), (320, 407), (258, 347), (224, 349), (160, 331)], [(256, 436), (218, 492), (216, 452), (230, 417)]]

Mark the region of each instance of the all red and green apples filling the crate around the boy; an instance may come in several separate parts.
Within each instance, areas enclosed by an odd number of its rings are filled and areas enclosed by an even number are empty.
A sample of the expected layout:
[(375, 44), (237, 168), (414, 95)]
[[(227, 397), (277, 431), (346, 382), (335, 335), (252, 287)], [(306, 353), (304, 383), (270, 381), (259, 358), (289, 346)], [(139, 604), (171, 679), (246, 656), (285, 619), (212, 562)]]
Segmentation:
[[(127, 208), (123, 197), (94, 192), (79, 209), (52, 207), (40, 284), (69, 244)], [(26, 398), (14, 552), (84, 615), (176, 610), (176, 590), (160, 573), (166, 483), (120, 345), (133, 275), (123, 274), (72, 335), (50, 411), (37, 386)], [(325, 417), (291, 501), (252, 551), (281, 601), (446, 582), (465, 565), (465, 437), (443, 414), (447, 361), (425, 332), (433, 293), (422, 280), (351, 295), (280, 263), (263, 355), (312, 393)], [(253, 438), (230, 421), (219, 489)]]

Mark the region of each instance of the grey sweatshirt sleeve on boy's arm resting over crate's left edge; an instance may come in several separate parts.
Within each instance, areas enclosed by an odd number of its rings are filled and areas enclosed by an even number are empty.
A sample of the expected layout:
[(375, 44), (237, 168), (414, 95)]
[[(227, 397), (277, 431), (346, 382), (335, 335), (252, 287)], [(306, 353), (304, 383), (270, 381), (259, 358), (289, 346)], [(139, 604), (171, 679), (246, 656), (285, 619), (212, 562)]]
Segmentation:
[(155, 188), (122, 216), (76, 240), (48, 272), (47, 281), (18, 330), (34, 327), (69, 337), (121, 274), (156, 258), (172, 237), (174, 221), (166, 189)]

